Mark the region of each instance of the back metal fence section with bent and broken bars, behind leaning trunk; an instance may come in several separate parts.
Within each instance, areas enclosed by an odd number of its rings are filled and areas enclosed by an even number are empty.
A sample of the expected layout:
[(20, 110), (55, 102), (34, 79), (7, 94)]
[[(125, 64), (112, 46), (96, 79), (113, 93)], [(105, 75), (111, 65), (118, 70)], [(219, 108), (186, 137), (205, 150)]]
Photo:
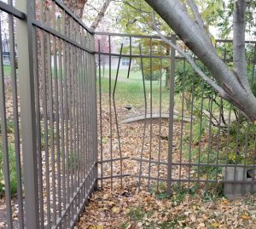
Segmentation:
[[(170, 38), (193, 57), (176, 36)], [(169, 194), (232, 198), (256, 192), (253, 123), (159, 37), (99, 32), (96, 40), (102, 186), (132, 180), (138, 189)], [(231, 48), (230, 40), (216, 41), (230, 66)], [(254, 85), (256, 43), (246, 48)]]

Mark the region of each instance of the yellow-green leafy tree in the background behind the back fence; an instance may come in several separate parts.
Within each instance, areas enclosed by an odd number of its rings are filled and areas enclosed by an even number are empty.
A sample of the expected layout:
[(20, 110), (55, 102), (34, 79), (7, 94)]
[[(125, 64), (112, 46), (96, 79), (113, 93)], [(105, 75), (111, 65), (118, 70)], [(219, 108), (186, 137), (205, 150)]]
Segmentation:
[[(223, 1), (221, 0), (206, 0), (199, 2), (203, 14), (203, 18), (207, 21), (207, 29), (209, 26), (215, 23), (215, 20), (218, 17), (218, 9)], [(144, 0), (131, 0), (131, 1), (122, 1), (119, 4), (120, 10), (117, 11), (116, 24), (119, 26), (119, 30), (125, 31), (127, 33), (133, 34), (146, 34), (152, 35), (154, 29), (152, 28), (151, 20), (151, 9)], [(209, 16), (210, 15), (210, 16)], [(170, 26), (166, 23), (159, 24), (160, 31), (164, 32), (166, 37), (171, 37), (173, 31)], [(141, 39), (138, 43), (142, 43), (146, 49), (150, 49), (150, 42)], [(162, 46), (161, 54), (170, 55), (171, 48), (170, 45), (159, 40), (154, 40), (154, 49), (158, 47), (160, 49)], [(145, 61), (145, 72), (150, 72), (149, 60)], [(155, 62), (155, 61), (154, 61)], [(166, 89), (170, 88), (170, 61), (163, 61), (162, 63), (163, 70), (166, 74)], [(160, 68), (159, 65), (154, 65), (154, 68)]]

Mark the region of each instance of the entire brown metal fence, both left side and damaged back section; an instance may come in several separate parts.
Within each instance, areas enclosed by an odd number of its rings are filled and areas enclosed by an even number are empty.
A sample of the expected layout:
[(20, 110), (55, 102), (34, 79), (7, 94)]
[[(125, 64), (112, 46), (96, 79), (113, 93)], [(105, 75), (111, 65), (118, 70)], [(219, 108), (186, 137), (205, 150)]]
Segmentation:
[[(256, 192), (253, 123), (159, 37), (95, 39), (61, 0), (0, 9), (0, 227), (72, 228), (97, 180), (169, 194)], [(230, 66), (231, 46), (216, 41)], [(247, 63), (255, 89), (255, 42)]]

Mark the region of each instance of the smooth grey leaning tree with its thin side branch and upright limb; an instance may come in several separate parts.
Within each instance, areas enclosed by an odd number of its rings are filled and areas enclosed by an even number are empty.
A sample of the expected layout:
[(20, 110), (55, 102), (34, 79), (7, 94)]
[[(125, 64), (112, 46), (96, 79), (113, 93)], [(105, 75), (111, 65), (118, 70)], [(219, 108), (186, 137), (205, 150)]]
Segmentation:
[(186, 46), (207, 66), (209, 72), (218, 83), (195, 65), (195, 62), (184, 54), (181, 49), (166, 39), (153, 23), (154, 29), (160, 37), (169, 43), (179, 53), (186, 56), (195, 71), (209, 83), (213, 89), (218, 91), (220, 97), (229, 100), (256, 123), (256, 98), (250, 87), (247, 77), (247, 62), (245, 52), (246, 32), (246, 8), (245, 0), (236, 0), (233, 13), (233, 69), (224, 64), (216, 50), (205, 28), (204, 20), (193, 0), (167, 1), (146, 0), (146, 2), (158, 13), (166, 23), (172, 27), (177, 36), (183, 40)]

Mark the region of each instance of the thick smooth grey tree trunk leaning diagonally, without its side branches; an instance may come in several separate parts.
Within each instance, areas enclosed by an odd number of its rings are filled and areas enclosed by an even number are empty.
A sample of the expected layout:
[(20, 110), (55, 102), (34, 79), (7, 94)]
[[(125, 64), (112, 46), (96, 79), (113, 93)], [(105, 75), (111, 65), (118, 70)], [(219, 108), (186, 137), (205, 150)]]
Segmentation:
[(224, 94), (219, 95), (237, 106), (256, 123), (256, 98), (252, 90), (247, 87), (247, 79), (240, 76), (240, 72), (230, 71), (224, 61), (218, 57), (209, 44), (205, 31), (202, 31), (201, 26), (191, 19), (183, 4), (178, 0), (146, 0), (146, 2), (160, 14), (160, 17), (172, 27), (183, 43), (207, 66), (218, 85), (224, 89)]

